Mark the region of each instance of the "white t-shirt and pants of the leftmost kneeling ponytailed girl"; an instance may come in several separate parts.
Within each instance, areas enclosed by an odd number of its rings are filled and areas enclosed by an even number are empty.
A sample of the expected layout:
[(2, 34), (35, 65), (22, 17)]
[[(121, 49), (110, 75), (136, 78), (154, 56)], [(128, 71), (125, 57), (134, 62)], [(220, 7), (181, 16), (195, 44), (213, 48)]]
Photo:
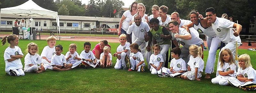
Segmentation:
[(20, 47), (14, 46), (14, 48), (7, 47), (4, 50), (4, 62), (5, 62), (5, 72), (11, 76), (20, 76), (25, 75), (24, 71), (22, 70), (22, 63), (20, 59), (16, 59), (14, 61), (7, 61), (11, 59), (11, 55), (23, 55)]

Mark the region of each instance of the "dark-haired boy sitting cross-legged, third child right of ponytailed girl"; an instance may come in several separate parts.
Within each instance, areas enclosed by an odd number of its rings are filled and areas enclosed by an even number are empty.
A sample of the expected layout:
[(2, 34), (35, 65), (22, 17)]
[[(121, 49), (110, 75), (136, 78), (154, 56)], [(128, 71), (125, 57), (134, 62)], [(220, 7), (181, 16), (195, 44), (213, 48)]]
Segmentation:
[(56, 54), (52, 56), (51, 67), (53, 71), (66, 71), (71, 70), (72, 64), (67, 64), (67, 60), (61, 52), (63, 52), (63, 47), (59, 44), (55, 47)]

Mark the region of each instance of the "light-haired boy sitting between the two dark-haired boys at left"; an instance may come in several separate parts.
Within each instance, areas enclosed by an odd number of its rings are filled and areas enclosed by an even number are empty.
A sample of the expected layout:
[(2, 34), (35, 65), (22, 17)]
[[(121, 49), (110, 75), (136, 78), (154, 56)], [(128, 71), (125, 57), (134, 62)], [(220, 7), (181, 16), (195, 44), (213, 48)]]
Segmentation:
[(69, 51), (66, 53), (65, 58), (67, 63), (71, 63), (73, 66), (71, 68), (75, 68), (82, 63), (79, 54), (76, 52), (76, 44), (71, 43), (69, 45)]

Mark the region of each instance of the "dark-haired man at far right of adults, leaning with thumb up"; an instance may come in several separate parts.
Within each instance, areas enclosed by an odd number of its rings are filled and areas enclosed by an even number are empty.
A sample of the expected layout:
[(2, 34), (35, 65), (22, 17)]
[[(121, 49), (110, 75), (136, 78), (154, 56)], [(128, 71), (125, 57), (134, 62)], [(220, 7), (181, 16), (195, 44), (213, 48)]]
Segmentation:
[[(216, 35), (220, 38), (220, 40), (223, 43), (226, 43), (226, 46), (223, 47), (221, 50), (223, 49), (231, 50), (233, 54), (233, 58), (235, 58), (236, 42), (237, 42), (237, 47), (240, 46), (241, 44), (239, 33), (242, 30), (242, 26), (234, 22), (231, 22), (228, 19), (216, 17), (215, 9), (212, 7), (207, 8), (205, 12), (206, 12), (206, 18), (208, 19), (208, 22), (212, 23), (213, 31), (216, 33)], [(220, 54), (219, 54), (219, 58), (220, 58)], [(217, 66), (219, 66), (219, 62), (220, 61), (218, 60)], [(219, 73), (216, 72), (216, 76), (218, 75)]]

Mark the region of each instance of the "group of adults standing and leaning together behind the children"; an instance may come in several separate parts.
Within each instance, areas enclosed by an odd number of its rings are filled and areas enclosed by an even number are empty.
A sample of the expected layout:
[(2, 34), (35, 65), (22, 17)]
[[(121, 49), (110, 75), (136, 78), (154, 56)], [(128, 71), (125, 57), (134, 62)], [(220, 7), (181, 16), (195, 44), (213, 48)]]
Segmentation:
[[(168, 67), (170, 46), (171, 49), (179, 47), (178, 43), (180, 43), (183, 46), (180, 58), (188, 63), (189, 46), (198, 45), (204, 49), (204, 41), (199, 38), (199, 34), (204, 34), (207, 37), (209, 49), (205, 78), (210, 78), (210, 74), (214, 71), (216, 51), (220, 41), (227, 44), (222, 50), (230, 49), (234, 57), (236, 42), (238, 46), (241, 43), (239, 33), (242, 26), (227, 19), (216, 17), (215, 9), (212, 7), (205, 10), (206, 18), (203, 18), (197, 11), (190, 12), (190, 20), (180, 19), (178, 12), (168, 15), (168, 7), (165, 5), (160, 7), (153, 5), (152, 15), (150, 16), (145, 14), (145, 11), (144, 4), (133, 2), (130, 10), (124, 12), (119, 22), (118, 35), (126, 34), (128, 42), (137, 43), (147, 62), (149, 62), (151, 55), (151, 46), (157, 43), (161, 46), (160, 54), (164, 58), (162, 66)], [(145, 52), (145, 50), (147, 51)], [(150, 68), (150, 65), (148, 65), (148, 68)]]

